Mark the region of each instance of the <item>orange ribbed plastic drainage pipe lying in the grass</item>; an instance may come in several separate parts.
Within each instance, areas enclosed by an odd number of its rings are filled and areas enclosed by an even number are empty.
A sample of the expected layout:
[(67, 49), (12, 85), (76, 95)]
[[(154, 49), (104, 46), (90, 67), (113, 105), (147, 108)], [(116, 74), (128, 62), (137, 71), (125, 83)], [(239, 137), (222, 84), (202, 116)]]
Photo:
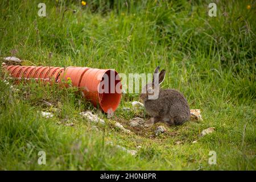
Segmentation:
[(19, 80), (35, 79), (47, 84), (57, 83), (80, 88), (82, 96), (92, 102), (94, 106), (100, 105), (105, 113), (113, 113), (122, 96), (121, 79), (113, 69), (97, 69), (88, 67), (29, 67), (29, 66), (4, 66), (11, 76)]

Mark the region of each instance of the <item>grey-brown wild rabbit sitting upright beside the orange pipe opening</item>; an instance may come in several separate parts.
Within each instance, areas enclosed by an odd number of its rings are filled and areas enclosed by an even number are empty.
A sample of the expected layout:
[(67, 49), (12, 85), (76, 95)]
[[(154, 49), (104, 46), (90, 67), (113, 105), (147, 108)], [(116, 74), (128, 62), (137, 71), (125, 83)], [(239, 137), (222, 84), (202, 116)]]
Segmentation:
[[(152, 126), (156, 122), (181, 125), (190, 117), (188, 102), (183, 94), (174, 89), (160, 89), (160, 84), (165, 76), (166, 71), (162, 69), (159, 73), (159, 67), (156, 67), (152, 83), (142, 89), (140, 98), (144, 102), (147, 113), (152, 117), (145, 122), (146, 127)], [(158, 93), (158, 98), (152, 99), (156, 93)]]

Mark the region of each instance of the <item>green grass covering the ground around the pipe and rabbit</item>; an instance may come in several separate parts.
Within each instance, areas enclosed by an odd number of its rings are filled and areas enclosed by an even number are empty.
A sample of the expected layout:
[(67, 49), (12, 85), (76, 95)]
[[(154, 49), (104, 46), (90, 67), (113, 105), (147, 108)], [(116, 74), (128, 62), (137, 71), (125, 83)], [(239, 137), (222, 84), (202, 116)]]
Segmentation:
[[(144, 117), (144, 111), (122, 110), (138, 101), (138, 94), (123, 94), (115, 116), (108, 119), (76, 89), (16, 85), (1, 71), (0, 169), (255, 170), (254, 1), (216, 1), (217, 17), (208, 16), (212, 1), (129, 1), (127, 6), (125, 1), (88, 1), (86, 7), (80, 1), (45, 1), (47, 16), (42, 18), (37, 14), (40, 2), (0, 2), (0, 57), (126, 74), (152, 73), (160, 65), (167, 71), (163, 88), (184, 93), (191, 109), (201, 109), (203, 121), (170, 127), (158, 137), (150, 136), (156, 126), (124, 134), (113, 123), (128, 127), (131, 118)], [(61, 20), (65, 9), (77, 12), (66, 11)], [(87, 109), (105, 119), (97, 132), (79, 114)], [(42, 110), (54, 117), (43, 118)], [(200, 138), (208, 127), (216, 131)], [(108, 141), (142, 148), (131, 156)], [(38, 164), (41, 150), (46, 165)], [(216, 165), (208, 164), (209, 151), (216, 151)]]

